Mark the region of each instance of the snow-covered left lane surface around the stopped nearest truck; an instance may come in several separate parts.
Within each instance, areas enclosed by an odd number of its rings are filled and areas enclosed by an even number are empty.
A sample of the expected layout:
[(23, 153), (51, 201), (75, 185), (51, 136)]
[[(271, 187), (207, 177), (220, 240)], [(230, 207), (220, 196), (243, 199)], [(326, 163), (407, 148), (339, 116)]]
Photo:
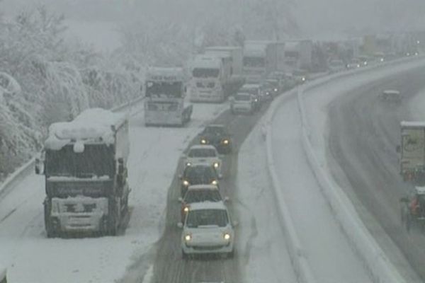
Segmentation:
[(132, 215), (123, 235), (46, 238), (43, 177), (31, 174), (18, 183), (0, 200), (0, 262), (8, 267), (10, 281), (114, 282), (133, 260), (149, 258), (150, 248), (162, 234), (166, 193), (183, 144), (200, 131), (205, 121), (227, 107), (196, 105), (193, 120), (183, 129), (146, 128), (143, 112), (132, 117), (128, 164)]

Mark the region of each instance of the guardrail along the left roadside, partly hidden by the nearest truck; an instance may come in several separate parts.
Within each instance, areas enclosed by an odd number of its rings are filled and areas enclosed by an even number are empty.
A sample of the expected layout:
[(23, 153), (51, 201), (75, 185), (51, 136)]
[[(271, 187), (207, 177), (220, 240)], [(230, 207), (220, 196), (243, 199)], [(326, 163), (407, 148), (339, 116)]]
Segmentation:
[[(118, 112), (126, 108), (129, 108), (129, 110), (131, 110), (133, 107), (138, 105), (138, 103), (142, 102), (143, 100), (145, 100), (144, 96), (135, 98), (129, 102), (126, 102), (111, 108), (111, 111)], [(13, 189), (13, 187), (15, 187), (17, 183), (19, 183), (21, 180), (23, 180), (28, 175), (30, 175), (30, 173), (33, 172), (34, 166), (35, 166), (35, 157), (31, 158), (30, 161), (23, 164), (23, 166), (16, 169), (16, 171), (14, 171), (11, 175), (9, 175), (6, 178), (6, 180), (4, 180), (4, 182), (0, 184), (0, 199), (3, 198), (5, 195), (7, 195), (8, 192), (11, 192), (11, 190)]]

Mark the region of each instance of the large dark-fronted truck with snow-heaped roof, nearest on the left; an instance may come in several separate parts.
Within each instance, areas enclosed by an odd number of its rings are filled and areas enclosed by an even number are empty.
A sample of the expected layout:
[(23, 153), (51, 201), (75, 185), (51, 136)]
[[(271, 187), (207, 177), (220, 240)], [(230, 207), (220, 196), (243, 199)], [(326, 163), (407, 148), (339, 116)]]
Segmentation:
[(45, 176), (47, 237), (116, 235), (128, 215), (128, 119), (101, 108), (50, 125), (35, 173)]

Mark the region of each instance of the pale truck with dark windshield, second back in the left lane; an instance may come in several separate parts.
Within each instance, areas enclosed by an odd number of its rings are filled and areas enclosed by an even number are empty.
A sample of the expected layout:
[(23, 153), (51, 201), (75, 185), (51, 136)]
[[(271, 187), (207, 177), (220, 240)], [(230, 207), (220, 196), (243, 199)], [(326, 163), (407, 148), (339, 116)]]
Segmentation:
[(147, 69), (145, 125), (180, 126), (191, 120), (193, 106), (185, 106), (186, 79), (182, 68)]

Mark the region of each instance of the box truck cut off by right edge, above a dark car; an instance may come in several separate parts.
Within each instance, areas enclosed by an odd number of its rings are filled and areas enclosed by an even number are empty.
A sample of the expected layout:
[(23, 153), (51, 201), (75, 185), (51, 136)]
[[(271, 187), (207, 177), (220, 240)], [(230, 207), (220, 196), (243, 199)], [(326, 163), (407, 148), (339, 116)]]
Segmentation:
[(403, 121), (399, 152), (400, 174), (404, 181), (425, 185), (425, 122)]

